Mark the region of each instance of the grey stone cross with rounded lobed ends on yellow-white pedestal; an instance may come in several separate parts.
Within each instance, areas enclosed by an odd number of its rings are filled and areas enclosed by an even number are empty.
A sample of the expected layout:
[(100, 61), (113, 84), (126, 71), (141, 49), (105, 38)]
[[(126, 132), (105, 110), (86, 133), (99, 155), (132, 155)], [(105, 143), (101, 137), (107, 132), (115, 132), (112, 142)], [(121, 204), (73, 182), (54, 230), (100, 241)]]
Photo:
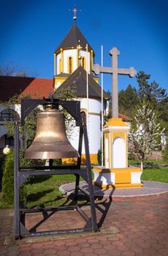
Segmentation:
[(112, 67), (100, 67), (99, 64), (95, 64), (92, 67), (92, 71), (96, 75), (99, 73), (109, 73), (112, 74), (112, 117), (119, 117), (119, 100), (118, 100), (118, 75), (129, 75), (130, 78), (133, 78), (137, 71), (134, 67), (129, 67), (129, 69), (119, 69), (118, 68), (118, 57), (119, 50), (116, 47), (113, 47), (110, 50), (110, 55), (112, 56)]

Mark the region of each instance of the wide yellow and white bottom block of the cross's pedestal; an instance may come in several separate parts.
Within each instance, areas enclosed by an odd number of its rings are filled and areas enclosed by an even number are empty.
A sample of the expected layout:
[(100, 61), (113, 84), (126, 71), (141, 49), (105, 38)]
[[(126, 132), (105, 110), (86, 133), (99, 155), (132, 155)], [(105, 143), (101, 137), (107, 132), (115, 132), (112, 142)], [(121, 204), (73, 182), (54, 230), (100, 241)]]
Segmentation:
[(138, 167), (105, 168), (93, 167), (94, 184), (103, 189), (143, 187), (140, 181), (142, 171)]

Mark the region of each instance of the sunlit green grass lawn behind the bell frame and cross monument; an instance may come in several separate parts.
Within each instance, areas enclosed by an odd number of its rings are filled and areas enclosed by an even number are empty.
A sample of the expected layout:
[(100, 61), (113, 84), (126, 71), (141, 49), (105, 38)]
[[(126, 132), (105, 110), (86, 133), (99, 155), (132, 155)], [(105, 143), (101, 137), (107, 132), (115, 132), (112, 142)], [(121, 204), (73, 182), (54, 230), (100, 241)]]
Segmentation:
[[(168, 167), (146, 167), (141, 179), (168, 183)], [(75, 181), (73, 175), (35, 176), (26, 185), (28, 191), (27, 207), (60, 206), (64, 203), (70, 203), (61, 195), (59, 187), (73, 181)], [(0, 197), (0, 208), (12, 208), (12, 206), (5, 204)]]

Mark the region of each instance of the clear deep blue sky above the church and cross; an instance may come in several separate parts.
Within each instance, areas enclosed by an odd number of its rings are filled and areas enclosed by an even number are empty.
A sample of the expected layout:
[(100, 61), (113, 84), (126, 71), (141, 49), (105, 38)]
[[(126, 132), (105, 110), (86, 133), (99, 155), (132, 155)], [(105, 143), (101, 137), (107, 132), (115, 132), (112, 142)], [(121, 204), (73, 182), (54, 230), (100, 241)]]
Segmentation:
[[(168, 1), (164, 0), (0, 0), (0, 65), (12, 64), (39, 78), (53, 77), (53, 53), (73, 25), (95, 50), (95, 63), (111, 65), (109, 50), (120, 50), (119, 67), (151, 74), (168, 92)], [(136, 78), (119, 76), (119, 90), (137, 86)], [(111, 90), (111, 75), (104, 75)]]

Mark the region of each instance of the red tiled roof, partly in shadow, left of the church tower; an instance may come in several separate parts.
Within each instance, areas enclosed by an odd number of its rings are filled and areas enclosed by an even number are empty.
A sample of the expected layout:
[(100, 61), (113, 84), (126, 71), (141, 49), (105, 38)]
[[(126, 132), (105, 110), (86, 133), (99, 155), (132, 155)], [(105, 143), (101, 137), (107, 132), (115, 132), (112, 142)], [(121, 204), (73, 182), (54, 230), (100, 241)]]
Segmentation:
[(33, 99), (48, 98), (54, 90), (52, 79), (12, 76), (0, 76), (0, 89), (2, 102), (8, 101), (14, 95), (30, 95)]

